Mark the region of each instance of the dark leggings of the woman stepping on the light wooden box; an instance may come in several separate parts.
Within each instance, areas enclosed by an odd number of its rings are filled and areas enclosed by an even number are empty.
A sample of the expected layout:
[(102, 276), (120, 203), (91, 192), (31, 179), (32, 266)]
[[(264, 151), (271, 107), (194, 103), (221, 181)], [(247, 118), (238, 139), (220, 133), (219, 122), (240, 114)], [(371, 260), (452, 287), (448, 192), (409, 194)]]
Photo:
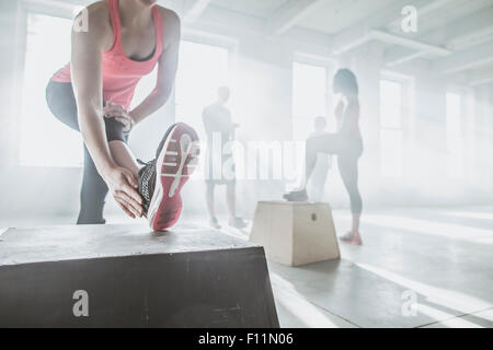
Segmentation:
[(337, 155), (339, 172), (351, 200), (351, 212), (360, 214), (362, 196), (358, 189), (358, 159), (363, 154), (360, 138), (344, 133), (324, 133), (307, 140), (307, 166), (314, 166), (317, 153)]

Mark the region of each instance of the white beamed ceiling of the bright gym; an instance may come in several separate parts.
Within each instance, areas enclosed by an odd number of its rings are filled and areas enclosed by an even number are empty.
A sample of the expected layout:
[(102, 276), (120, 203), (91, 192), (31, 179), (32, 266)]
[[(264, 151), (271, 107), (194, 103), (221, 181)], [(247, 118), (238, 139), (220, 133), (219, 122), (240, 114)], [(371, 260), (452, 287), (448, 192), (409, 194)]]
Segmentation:
[[(51, 7), (94, 0), (22, 0)], [(337, 56), (370, 42), (389, 67), (429, 61), (438, 71), (493, 78), (493, 0), (159, 0), (185, 27), (248, 31), (311, 42)], [(401, 10), (414, 5), (417, 33), (403, 33)], [(250, 19), (250, 20), (249, 20)], [(210, 25), (208, 26), (210, 27)], [(305, 33), (305, 36), (300, 36)], [(493, 79), (492, 79), (493, 81)], [(473, 83), (473, 82), (472, 82)]]

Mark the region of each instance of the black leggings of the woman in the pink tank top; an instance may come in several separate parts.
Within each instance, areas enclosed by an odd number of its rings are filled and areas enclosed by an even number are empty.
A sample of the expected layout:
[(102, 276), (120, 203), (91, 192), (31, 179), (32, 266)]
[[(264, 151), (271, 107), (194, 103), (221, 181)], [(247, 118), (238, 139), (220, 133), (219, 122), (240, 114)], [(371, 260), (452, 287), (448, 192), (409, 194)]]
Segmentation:
[[(77, 118), (77, 103), (71, 83), (50, 81), (46, 86), (46, 102), (58, 120), (73, 130), (80, 131)], [(128, 141), (128, 133), (123, 131), (124, 125), (114, 118), (104, 118), (107, 141)], [(92, 158), (84, 144), (84, 171), (80, 192), (80, 212), (77, 224), (101, 224), (107, 186), (98, 173)]]

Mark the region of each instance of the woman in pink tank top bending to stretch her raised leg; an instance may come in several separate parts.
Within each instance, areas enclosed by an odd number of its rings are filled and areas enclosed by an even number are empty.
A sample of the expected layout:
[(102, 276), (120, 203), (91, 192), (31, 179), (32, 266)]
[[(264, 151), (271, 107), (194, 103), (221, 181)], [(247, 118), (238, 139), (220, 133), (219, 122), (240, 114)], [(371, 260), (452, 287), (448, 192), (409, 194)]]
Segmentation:
[[(168, 101), (175, 79), (180, 20), (157, 0), (104, 0), (89, 5), (72, 31), (69, 65), (46, 89), (53, 114), (82, 133), (84, 172), (78, 223), (104, 223), (108, 189), (131, 218), (147, 217), (165, 230), (180, 217), (180, 190), (192, 172), (197, 135), (177, 124), (168, 129), (156, 159), (140, 167), (127, 144), (134, 125)], [(158, 66), (154, 90), (128, 110), (140, 79)]]

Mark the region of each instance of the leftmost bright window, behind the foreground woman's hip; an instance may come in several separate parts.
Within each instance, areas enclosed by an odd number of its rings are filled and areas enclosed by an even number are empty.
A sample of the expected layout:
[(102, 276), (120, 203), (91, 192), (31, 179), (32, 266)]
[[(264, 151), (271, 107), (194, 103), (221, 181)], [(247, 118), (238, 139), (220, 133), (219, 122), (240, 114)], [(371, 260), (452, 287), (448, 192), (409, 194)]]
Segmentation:
[(80, 166), (79, 132), (58, 121), (46, 105), (45, 88), (51, 75), (70, 60), (71, 21), (27, 15), (27, 37), (21, 107), (20, 164)]

